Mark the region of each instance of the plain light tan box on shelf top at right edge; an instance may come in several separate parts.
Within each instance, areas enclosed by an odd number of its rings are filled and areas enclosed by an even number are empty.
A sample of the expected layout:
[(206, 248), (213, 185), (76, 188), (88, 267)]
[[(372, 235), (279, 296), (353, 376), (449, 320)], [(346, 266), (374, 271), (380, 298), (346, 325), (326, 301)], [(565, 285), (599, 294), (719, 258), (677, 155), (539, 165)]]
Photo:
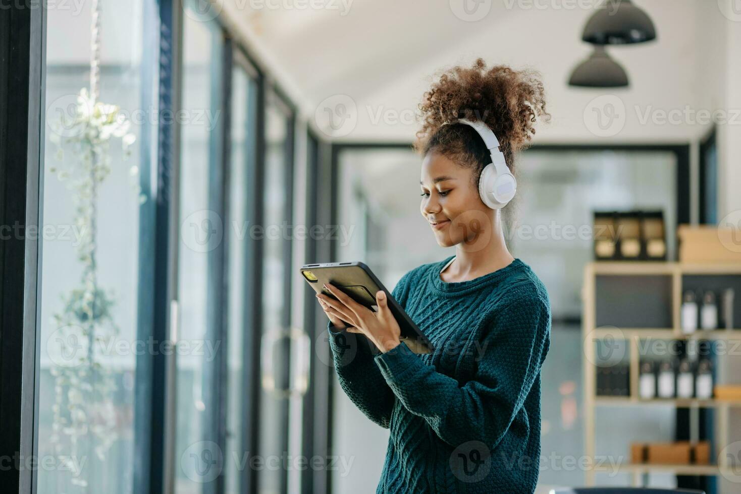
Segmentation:
[(714, 225), (679, 225), (679, 262), (741, 263), (740, 232)]

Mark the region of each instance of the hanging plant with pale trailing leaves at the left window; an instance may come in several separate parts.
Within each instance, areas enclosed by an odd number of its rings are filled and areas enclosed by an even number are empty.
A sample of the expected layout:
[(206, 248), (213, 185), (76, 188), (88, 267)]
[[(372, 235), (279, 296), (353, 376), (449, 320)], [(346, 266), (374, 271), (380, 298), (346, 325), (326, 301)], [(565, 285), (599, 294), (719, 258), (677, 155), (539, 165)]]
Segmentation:
[[(50, 141), (56, 144), (56, 158), (64, 159), (70, 149), (68, 166), (51, 167), (59, 180), (67, 182), (76, 203), (74, 222), (82, 233), (77, 256), (82, 263), (79, 286), (62, 295), (62, 311), (53, 315), (53, 324), (61, 331), (57, 339), (63, 353), (75, 353), (82, 345), (82, 355), (75, 355), (72, 365), (53, 365), (55, 379), (53, 423), (50, 441), (59, 459), (70, 459), (65, 465), (71, 482), (81, 487), (87, 480), (81, 476), (79, 459), (83, 446), (104, 460), (105, 453), (116, 441), (116, 414), (113, 407), (116, 384), (113, 371), (102, 362), (103, 348), (119, 334), (112, 308), (116, 297), (98, 283), (96, 255), (98, 244), (98, 194), (101, 184), (110, 175), (110, 143), (120, 140), (124, 159), (130, 156), (130, 146), (136, 136), (130, 132), (130, 121), (119, 106), (97, 101), (99, 82), (99, 1), (93, 0), (92, 53), (90, 91), (83, 87), (76, 97), (71, 115), (62, 115), (51, 122)], [(130, 175), (138, 178), (136, 165)], [(138, 180), (135, 180), (138, 182)], [(139, 195), (138, 183), (135, 185)], [(141, 202), (141, 200), (140, 200)], [(84, 444), (82, 444), (84, 443)]]

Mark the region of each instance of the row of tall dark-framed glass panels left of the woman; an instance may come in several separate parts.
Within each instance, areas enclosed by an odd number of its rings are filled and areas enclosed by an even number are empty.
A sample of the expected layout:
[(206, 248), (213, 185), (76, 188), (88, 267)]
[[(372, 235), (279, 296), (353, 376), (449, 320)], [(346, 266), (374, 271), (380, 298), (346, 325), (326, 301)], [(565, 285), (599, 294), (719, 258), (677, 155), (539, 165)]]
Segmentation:
[(288, 492), (294, 109), (185, 3), (47, 11), (39, 493)]

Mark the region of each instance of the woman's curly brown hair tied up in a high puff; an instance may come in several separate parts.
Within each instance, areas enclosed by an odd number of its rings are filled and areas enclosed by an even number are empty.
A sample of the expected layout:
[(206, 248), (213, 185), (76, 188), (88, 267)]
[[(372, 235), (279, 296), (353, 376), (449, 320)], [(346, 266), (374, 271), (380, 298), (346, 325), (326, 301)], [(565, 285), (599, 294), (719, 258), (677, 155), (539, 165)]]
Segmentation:
[(537, 119), (551, 120), (551, 114), (545, 111), (539, 72), (516, 71), (506, 65), (487, 70), (482, 58), (477, 58), (471, 68), (446, 70), (425, 92), (418, 109), (422, 112), (422, 129), (416, 132), (414, 150), (423, 157), (439, 152), (473, 167), (473, 186), (491, 160), (488, 150), (471, 126), (443, 125), (445, 122), (468, 118), (487, 124), (516, 176), (515, 155), (530, 143)]

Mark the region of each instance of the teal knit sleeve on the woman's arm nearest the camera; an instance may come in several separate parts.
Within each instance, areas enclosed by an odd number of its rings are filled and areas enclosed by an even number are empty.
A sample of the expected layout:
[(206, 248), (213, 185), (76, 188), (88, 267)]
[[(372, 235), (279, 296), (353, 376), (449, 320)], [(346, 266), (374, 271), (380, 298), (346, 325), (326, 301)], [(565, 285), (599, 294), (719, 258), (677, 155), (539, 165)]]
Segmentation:
[(539, 375), (550, 345), (551, 308), (540, 298), (508, 301), (494, 314), (480, 345), (473, 379), (456, 379), (422, 362), (401, 343), (375, 357), (402, 405), (421, 416), (443, 441), (457, 447), (499, 444)]

